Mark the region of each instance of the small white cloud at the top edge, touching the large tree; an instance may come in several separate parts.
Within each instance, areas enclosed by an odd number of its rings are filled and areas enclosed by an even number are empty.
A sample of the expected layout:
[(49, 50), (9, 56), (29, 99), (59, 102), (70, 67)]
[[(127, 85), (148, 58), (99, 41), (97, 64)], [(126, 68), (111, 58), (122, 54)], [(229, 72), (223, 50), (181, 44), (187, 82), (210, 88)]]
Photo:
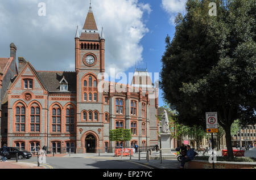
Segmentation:
[(170, 23), (174, 25), (177, 13), (185, 13), (187, 0), (162, 0), (162, 8), (170, 15)]

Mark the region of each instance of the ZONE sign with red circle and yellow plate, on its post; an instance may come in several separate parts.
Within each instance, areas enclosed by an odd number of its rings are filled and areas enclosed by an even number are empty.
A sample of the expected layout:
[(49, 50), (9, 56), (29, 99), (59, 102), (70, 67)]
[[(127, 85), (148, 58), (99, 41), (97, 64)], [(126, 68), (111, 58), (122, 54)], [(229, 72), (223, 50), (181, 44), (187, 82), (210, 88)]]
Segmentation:
[[(217, 113), (205, 113), (206, 114), (206, 123), (207, 123), (207, 133), (212, 133), (212, 153), (213, 152), (213, 132), (218, 132), (218, 116)], [(214, 169), (214, 161), (212, 163)]]

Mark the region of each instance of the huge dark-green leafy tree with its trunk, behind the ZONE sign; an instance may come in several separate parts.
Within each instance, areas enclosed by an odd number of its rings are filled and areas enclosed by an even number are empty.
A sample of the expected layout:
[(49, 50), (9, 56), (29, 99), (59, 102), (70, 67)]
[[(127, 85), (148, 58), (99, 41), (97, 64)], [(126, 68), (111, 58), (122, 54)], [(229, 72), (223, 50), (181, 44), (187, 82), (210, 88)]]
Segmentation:
[(175, 36), (166, 38), (160, 87), (164, 98), (189, 126), (205, 126), (205, 112), (217, 112), (233, 158), (230, 127), (236, 119), (256, 122), (255, 0), (188, 0), (176, 18)]

